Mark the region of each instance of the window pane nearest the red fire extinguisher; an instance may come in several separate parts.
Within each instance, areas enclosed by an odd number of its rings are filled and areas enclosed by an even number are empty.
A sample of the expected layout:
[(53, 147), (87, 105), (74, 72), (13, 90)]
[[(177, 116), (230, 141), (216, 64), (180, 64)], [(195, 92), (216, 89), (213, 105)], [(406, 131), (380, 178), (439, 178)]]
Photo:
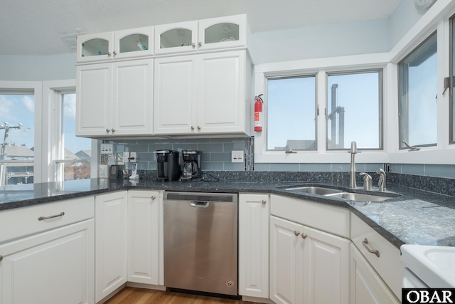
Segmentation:
[(267, 150), (316, 150), (316, 77), (267, 80)]

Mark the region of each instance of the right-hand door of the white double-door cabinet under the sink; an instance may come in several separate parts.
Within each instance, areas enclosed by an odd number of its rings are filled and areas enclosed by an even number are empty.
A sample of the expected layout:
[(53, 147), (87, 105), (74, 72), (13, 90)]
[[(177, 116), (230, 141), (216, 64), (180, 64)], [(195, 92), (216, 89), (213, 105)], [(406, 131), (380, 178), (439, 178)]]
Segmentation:
[(304, 303), (348, 304), (350, 241), (306, 226), (302, 236)]

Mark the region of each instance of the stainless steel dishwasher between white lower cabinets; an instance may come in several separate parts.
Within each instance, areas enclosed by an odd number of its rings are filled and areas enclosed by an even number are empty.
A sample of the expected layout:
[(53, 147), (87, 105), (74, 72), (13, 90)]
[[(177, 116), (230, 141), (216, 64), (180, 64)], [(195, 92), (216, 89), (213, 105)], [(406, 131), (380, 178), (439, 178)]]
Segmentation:
[(164, 192), (164, 285), (237, 295), (238, 195)]

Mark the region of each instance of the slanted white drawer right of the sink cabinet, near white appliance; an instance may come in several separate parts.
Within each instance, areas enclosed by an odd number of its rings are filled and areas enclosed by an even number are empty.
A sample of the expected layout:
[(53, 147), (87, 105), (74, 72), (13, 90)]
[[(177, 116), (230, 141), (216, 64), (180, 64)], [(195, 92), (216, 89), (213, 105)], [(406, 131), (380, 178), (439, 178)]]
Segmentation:
[[(355, 215), (351, 216), (350, 229), (355, 246), (395, 295), (401, 298), (403, 266), (400, 261), (400, 250)], [(368, 243), (365, 243), (365, 239)], [(377, 250), (379, 256), (369, 252), (368, 248), (372, 251)]]

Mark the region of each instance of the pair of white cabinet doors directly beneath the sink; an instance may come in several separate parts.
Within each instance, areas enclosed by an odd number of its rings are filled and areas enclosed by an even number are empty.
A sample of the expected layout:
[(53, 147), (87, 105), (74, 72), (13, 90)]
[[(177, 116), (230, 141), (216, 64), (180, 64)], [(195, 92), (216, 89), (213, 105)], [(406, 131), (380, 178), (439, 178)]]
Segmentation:
[(348, 239), (270, 216), (270, 298), (349, 303)]

